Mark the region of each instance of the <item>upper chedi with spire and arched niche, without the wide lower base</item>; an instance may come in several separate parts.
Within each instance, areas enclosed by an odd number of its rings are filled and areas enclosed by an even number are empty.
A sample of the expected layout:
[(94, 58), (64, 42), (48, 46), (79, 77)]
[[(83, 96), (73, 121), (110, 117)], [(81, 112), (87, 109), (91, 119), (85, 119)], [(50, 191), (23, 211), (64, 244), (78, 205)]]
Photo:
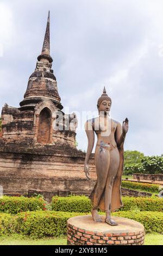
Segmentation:
[[(2, 139), (6, 143), (35, 144), (66, 144), (75, 147), (76, 124), (75, 114), (70, 116), (61, 112), (63, 106), (53, 74), (49, 44), (49, 15), (41, 55), (37, 58), (35, 71), (29, 77), (24, 100), (20, 108), (2, 108)], [(59, 124), (57, 113), (62, 114), (62, 124)], [(72, 120), (73, 119), (73, 120)], [(65, 129), (67, 120), (74, 123), (70, 129)], [(62, 129), (57, 129), (61, 125)], [(69, 125), (69, 124), (68, 124)], [(54, 127), (55, 126), (55, 127)]]

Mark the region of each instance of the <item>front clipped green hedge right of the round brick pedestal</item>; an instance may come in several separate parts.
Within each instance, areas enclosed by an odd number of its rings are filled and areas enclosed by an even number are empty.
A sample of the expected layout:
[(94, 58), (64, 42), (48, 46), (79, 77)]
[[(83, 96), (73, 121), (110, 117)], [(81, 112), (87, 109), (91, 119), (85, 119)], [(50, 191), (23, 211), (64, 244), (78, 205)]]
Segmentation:
[(146, 233), (163, 234), (163, 214), (158, 211), (120, 211), (114, 212), (113, 216), (130, 218), (140, 222), (145, 227)]

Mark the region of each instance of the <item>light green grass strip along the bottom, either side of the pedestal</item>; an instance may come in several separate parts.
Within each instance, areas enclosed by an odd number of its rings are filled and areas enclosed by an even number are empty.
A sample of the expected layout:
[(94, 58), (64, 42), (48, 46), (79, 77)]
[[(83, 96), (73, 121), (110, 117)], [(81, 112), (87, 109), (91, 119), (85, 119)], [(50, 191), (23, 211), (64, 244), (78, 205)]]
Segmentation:
[[(66, 243), (66, 237), (51, 237), (36, 240), (23, 238), (21, 235), (0, 237), (0, 245), (66, 245)], [(163, 235), (147, 234), (145, 237), (145, 245), (163, 245)]]

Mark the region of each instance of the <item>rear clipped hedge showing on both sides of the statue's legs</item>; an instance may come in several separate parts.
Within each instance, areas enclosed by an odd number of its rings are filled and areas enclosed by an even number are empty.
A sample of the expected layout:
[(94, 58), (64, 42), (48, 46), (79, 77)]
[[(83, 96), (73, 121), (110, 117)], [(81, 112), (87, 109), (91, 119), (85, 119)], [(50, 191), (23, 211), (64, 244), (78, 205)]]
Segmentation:
[[(123, 208), (127, 211), (138, 208), (140, 211), (163, 211), (163, 199), (158, 197), (122, 197)], [(65, 212), (90, 212), (91, 200), (86, 196), (53, 197), (52, 210)]]

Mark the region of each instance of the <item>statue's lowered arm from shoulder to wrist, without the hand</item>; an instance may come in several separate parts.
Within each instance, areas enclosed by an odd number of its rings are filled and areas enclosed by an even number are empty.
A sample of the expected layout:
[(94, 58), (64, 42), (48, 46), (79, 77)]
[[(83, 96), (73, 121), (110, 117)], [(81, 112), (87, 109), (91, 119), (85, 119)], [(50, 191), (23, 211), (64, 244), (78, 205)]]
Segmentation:
[(95, 143), (95, 133), (93, 131), (92, 122), (86, 121), (85, 123), (85, 131), (87, 135), (88, 145), (87, 145), (87, 152), (85, 157), (85, 164), (89, 162), (90, 155), (92, 153), (92, 149)]

